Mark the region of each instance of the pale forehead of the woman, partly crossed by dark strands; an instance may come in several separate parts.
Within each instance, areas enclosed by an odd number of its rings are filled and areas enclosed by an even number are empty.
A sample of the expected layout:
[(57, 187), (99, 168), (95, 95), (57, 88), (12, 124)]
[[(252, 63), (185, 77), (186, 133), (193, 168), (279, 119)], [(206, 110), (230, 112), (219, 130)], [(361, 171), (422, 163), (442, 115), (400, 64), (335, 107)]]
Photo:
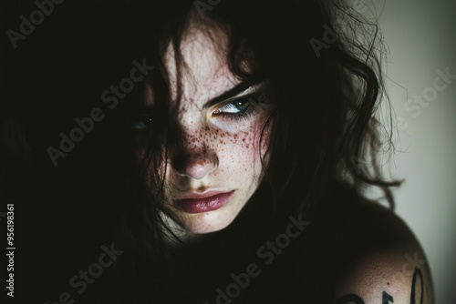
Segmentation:
[[(181, 40), (182, 62), (176, 61), (173, 46), (167, 47), (163, 59), (170, 76), (172, 100), (181, 86), (182, 104), (202, 106), (240, 82), (229, 69), (227, 41), (227, 35), (220, 29), (191, 25)], [(179, 84), (178, 69), (181, 69)]]

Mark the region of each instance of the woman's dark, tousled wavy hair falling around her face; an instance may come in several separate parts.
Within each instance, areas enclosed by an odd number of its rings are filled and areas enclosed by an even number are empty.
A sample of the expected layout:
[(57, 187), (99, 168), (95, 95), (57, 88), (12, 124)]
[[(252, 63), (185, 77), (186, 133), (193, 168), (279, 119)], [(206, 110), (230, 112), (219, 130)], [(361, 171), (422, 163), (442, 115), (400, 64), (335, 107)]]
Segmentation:
[[(272, 198), (267, 206), (274, 218), (304, 209), (311, 212), (319, 196), (334, 185), (347, 185), (360, 196), (370, 185), (380, 187), (393, 206), (389, 187), (399, 182), (381, 177), (376, 158), (384, 144), (379, 132), (385, 128), (375, 114), (385, 92), (383, 45), (375, 22), (337, 0), (230, 0), (212, 1), (212, 5), (167, 1), (156, 2), (143, 12), (139, 18), (150, 20), (144, 26), (155, 31), (141, 47), (144, 56), (160, 67), (149, 80), (163, 102), (154, 108), (148, 131), (140, 137), (128, 134), (127, 140), (149, 152), (146, 167), (152, 171), (159, 167), (167, 157), (161, 147), (177, 137), (161, 58), (169, 44), (179, 50), (186, 28), (197, 23), (201, 28), (216, 26), (228, 35), (226, 56), (234, 76), (268, 80), (267, 95), (274, 101), (269, 117), (274, 121), (272, 158), (257, 191), (267, 195), (256, 193), (251, 200)], [(181, 54), (175, 56), (184, 66)], [(134, 117), (139, 109), (133, 103), (130, 114)], [(141, 174), (150, 172), (142, 170)], [(135, 192), (139, 205), (131, 208), (129, 204), (130, 211), (122, 211), (130, 214), (127, 226), (136, 241), (156, 252), (164, 248), (164, 236), (172, 235), (161, 212), (179, 221), (162, 206), (160, 196), (150, 195), (150, 183), (160, 194), (162, 178), (158, 172), (152, 181), (136, 175), (136, 187), (142, 185)], [(157, 242), (150, 242), (150, 235)]]

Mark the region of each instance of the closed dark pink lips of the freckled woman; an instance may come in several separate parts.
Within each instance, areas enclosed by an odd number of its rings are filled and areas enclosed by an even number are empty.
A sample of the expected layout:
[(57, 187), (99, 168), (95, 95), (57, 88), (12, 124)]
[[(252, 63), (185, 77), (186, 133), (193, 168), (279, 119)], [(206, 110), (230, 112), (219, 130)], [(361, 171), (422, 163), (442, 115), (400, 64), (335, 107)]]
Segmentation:
[(202, 213), (222, 208), (233, 196), (230, 192), (206, 192), (203, 194), (189, 194), (185, 198), (175, 199), (174, 206), (187, 213)]

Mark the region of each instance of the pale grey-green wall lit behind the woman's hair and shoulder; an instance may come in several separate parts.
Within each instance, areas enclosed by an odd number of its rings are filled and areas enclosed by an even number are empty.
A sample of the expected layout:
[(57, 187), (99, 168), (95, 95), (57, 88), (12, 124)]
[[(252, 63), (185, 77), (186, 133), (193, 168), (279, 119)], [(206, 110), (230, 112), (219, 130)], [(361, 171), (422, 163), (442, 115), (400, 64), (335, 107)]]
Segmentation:
[(455, 304), (456, 79), (417, 117), (404, 104), (433, 86), (437, 69), (449, 67), (456, 75), (456, 1), (364, 1), (377, 9), (389, 46), (386, 84), (395, 116), (402, 119), (395, 131), (402, 152), (391, 162), (392, 176), (406, 179), (395, 191), (396, 210), (426, 251), (436, 303)]

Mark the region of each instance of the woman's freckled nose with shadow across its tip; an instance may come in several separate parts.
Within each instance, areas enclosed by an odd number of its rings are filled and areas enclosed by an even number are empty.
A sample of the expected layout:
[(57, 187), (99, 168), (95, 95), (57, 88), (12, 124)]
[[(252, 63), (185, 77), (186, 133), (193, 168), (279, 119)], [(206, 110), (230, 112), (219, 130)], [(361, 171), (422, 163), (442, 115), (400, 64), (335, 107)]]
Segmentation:
[(207, 147), (204, 136), (183, 133), (181, 141), (171, 152), (171, 167), (181, 177), (202, 179), (219, 166), (219, 159), (212, 148)]

